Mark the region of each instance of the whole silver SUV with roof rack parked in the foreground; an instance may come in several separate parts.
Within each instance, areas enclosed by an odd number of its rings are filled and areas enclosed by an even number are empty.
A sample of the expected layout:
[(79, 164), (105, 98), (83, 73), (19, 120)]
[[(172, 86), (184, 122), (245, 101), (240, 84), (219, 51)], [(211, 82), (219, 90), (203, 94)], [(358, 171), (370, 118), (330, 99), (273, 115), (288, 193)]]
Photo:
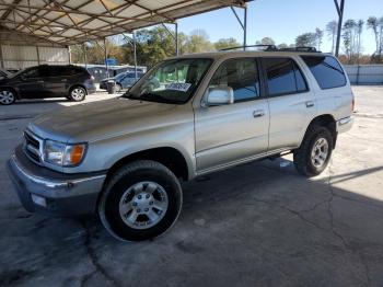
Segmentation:
[(182, 56), (121, 97), (37, 117), (8, 170), (27, 210), (97, 213), (114, 237), (146, 240), (176, 221), (182, 181), (287, 152), (299, 173), (320, 174), (352, 110), (327, 54)]

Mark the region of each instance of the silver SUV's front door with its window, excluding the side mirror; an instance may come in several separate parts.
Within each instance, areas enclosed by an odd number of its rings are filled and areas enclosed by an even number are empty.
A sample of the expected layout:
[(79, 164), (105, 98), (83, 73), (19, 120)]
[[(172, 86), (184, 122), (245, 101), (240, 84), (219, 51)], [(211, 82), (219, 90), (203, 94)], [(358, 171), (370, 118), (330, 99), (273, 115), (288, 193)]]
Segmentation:
[(195, 110), (198, 173), (267, 151), (269, 112), (258, 76), (255, 58), (229, 59), (217, 69), (207, 92), (214, 87), (230, 87), (234, 103)]

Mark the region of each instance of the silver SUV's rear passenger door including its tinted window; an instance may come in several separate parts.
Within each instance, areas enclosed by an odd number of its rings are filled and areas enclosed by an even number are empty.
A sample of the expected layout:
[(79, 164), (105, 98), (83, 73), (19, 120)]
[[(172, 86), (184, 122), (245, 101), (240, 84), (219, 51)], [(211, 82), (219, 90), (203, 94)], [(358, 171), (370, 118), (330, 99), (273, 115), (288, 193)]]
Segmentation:
[(262, 66), (270, 107), (268, 150), (298, 147), (316, 114), (314, 94), (292, 57), (266, 57)]

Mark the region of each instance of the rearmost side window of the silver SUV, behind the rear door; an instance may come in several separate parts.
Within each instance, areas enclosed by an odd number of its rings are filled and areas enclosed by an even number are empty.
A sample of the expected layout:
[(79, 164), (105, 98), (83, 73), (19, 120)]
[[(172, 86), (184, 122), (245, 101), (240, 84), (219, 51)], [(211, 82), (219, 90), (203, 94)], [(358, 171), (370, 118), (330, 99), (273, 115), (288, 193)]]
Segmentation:
[(339, 62), (330, 56), (301, 56), (314, 74), (321, 89), (332, 89), (346, 84), (345, 72)]

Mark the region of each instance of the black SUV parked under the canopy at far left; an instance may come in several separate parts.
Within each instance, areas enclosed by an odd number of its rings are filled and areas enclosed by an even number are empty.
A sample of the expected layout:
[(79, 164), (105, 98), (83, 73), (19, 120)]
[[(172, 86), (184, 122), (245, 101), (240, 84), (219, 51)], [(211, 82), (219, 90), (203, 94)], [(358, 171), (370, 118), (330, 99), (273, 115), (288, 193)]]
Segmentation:
[(21, 99), (67, 97), (83, 101), (95, 92), (93, 77), (82, 67), (40, 65), (0, 80), (0, 104)]

